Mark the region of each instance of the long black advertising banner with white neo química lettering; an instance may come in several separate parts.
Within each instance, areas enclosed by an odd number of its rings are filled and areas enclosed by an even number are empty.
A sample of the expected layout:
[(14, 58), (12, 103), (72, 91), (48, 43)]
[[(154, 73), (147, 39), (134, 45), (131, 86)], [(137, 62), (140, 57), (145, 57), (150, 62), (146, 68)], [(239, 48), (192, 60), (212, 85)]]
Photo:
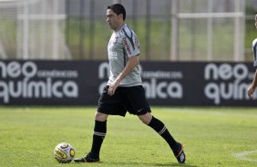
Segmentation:
[[(245, 63), (141, 62), (150, 105), (253, 106), (255, 68)], [(0, 61), (1, 105), (97, 105), (104, 61)], [(256, 94), (255, 94), (256, 96)]]

